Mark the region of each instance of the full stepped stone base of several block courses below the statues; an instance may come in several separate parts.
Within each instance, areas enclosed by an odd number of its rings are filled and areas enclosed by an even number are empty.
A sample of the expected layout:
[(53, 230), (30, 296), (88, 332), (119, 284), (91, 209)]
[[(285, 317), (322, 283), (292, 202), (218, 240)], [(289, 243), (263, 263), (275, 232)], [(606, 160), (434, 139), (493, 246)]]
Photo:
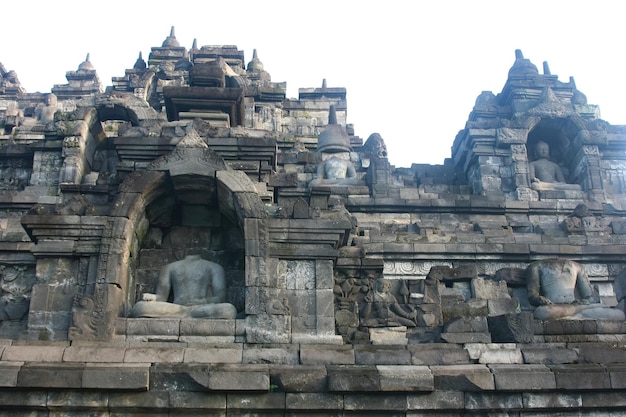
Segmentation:
[(623, 339), (398, 346), (4, 340), (0, 410), (10, 416), (574, 410), (618, 416), (626, 413)]

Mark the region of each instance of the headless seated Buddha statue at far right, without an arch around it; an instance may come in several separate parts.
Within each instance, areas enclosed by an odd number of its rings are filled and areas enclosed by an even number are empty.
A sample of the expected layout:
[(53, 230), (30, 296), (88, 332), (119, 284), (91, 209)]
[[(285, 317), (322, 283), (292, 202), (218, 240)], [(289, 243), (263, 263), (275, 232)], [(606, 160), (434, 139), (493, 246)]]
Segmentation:
[(526, 283), (536, 319), (625, 319), (623, 311), (594, 300), (587, 274), (577, 262), (560, 258), (533, 262), (526, 269)]

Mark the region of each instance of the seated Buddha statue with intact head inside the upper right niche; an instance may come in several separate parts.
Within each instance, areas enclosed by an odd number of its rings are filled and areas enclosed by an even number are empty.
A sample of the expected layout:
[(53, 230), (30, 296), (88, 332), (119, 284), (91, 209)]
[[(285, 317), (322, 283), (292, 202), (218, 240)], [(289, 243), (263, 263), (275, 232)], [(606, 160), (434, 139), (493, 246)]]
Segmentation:
[(535, 145), (535, 160), (528, 164), (531, 188), (534, 190), (580, 190), (578, 184), (567, 184), (561, 167), (550, 161), (550, 145)]

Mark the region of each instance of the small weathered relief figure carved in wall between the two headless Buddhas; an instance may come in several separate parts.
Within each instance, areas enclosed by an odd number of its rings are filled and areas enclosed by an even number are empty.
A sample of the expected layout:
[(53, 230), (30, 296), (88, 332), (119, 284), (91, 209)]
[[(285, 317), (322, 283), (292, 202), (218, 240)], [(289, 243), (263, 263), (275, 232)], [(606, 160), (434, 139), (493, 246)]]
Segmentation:
[(374, 289), (365, 296), (361, 323), (366, 327), (417, 326), (417, 310), (398, 303), (390, 290), (390, 281), (378, 278), (374, 282)]

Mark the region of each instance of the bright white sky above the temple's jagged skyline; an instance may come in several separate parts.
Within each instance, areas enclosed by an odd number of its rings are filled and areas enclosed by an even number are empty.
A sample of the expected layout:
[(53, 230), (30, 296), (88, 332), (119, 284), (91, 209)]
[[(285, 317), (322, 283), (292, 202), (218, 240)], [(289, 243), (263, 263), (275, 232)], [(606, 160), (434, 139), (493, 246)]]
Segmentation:
[(272, 81), (346, 87), (348, 123), (379, 132), (396, 166), (441, 164), (481, 91), (499, 93), (521, 49), (576, 85), (602, 118), (626, 124), (623, 5), (614, 0), (82, 0), (11, 2), (0, 62), (28, 92), (66, 84), (90, 53), (105, 86), (171, 26), (181, 46), (257, 49)]

